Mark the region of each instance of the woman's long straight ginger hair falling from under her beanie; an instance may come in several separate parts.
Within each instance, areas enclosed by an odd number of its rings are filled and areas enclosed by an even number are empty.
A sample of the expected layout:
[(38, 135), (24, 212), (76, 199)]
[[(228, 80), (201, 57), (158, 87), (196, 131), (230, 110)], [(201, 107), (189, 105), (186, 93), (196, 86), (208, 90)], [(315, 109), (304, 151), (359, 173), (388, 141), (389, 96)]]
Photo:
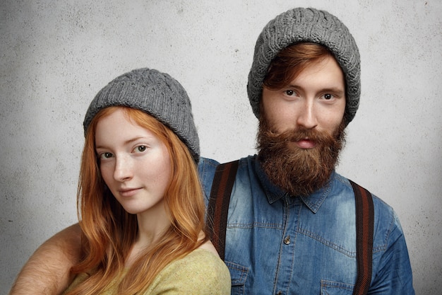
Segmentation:
[(88, 274), (88, 279), (67, 294), (97, 294), (119, 279), (136, 239), (136, 215), (127, 213), (106, 187), (95, 152), (97, 122), (118, 108), (137, 125), (149, 129), (166, 146), (172, 159), (170, 182), (165, 192), (171, 225), (159, 241), (138, 255), (126, 270), (118, 294), (140, 294), (170, 262), (184, 257), (208, 241), (198, 237), (204, 231), (205, 205), (196, 163), (189, 149), (171, 129), (141, 110), (109, 107), (93, 118), (85, 136), (80, 166), (77, 207), (82, 233), (83, 259), (71, 272)]

